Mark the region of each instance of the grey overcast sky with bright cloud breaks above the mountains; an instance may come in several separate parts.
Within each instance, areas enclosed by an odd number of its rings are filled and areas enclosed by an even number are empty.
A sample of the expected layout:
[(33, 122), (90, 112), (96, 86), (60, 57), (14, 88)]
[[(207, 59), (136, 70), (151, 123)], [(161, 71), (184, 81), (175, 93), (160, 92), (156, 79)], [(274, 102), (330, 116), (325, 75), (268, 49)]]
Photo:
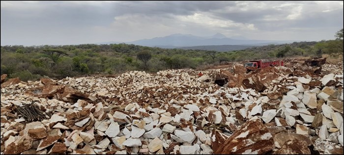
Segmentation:
[(1, 1), (1, 46), (128, 42), (174, 33), (335, 39), (343, 1)]

